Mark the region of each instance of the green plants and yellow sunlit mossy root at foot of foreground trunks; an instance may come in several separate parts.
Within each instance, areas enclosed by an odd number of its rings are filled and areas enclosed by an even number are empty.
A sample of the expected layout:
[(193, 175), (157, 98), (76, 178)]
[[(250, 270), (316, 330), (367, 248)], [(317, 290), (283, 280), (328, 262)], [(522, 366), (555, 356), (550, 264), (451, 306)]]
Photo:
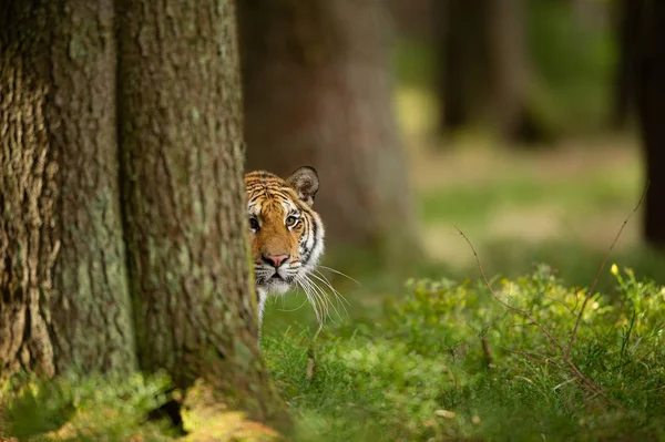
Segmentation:
[[(177, 395), (185, 433), (154, 413)], [(12, 379), (0, 397), (0, 441), (267, 442), (275, 430), (248, 420), (195, 382), (184, 394), (163, 374)], [(11, 439), (16, 438), (16, 439)]]

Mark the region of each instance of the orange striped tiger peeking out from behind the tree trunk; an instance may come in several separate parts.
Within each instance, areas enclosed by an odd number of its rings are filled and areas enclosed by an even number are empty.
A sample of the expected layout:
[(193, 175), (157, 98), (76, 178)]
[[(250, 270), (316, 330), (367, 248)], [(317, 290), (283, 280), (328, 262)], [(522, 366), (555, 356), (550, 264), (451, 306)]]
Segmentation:
[(325, 229), (311, 208), (319, 186), (313, 167), (300, 167), (287, 179), (249, 172), (245, 186), (260, 325), (267, 296), (303, 284), (316, 269)]

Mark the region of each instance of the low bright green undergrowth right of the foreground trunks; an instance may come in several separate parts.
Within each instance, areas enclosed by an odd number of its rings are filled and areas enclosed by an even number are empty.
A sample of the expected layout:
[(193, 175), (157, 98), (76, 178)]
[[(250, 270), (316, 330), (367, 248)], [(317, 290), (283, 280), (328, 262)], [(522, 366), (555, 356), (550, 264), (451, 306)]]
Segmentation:
[(380, 321), (290, 328), (265, 352), (301, 440), (663, 440), (665, 288), (613, 273), (570, 356), (586, 292), (548, 266), (492, 281), (528, 313), (482, 282), (410, 280)]

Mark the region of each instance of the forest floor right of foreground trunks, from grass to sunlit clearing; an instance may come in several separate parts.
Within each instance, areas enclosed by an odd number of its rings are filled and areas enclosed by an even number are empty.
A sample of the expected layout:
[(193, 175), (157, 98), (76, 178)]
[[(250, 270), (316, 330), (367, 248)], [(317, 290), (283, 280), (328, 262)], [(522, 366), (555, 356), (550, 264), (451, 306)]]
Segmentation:
[[(359, 286), (328, 275), (349, 305), (321, 330), (303, 296), (266, 313), (264, 350), (301, 440), (665, 440), (665, 288), (648, 282), (665, 284), (665, 260), (640, 244), (640, 210), (574, 356), (556, 351), (640, 201), (636, 142), (408, 145), (426, 261), (406, 275), (368, 267), (361, 250), (329, 261)], [(498, 294), (531, 319), (493, 299), (457, 228)]]

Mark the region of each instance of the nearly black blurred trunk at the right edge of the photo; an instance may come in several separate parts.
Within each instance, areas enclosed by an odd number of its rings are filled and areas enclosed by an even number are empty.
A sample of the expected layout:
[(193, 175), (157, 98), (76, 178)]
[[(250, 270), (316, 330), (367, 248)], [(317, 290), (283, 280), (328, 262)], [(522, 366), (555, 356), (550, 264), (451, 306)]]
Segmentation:
[(665, 250), (665, 2), (626, 1), (637, 2), (640, 8), (633, 89), (649, 181), (644, 236), (649, 244)]

